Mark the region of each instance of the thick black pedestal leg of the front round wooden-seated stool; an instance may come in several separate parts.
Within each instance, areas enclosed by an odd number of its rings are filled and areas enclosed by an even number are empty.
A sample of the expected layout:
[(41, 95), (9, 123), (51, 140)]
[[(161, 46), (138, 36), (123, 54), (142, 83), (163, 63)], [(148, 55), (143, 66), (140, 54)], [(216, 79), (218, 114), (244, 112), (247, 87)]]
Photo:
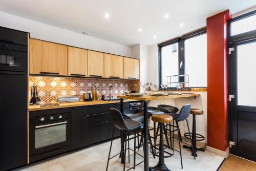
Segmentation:
[(164, 134), (164, 124), (160, 123), (160, 145), (159, 145), (159, 162), (155, 167), (150, 167), (149, 170), (166, 170), (170, 171), (164, 164), (164, 145), (163, 145), (163, 134)]

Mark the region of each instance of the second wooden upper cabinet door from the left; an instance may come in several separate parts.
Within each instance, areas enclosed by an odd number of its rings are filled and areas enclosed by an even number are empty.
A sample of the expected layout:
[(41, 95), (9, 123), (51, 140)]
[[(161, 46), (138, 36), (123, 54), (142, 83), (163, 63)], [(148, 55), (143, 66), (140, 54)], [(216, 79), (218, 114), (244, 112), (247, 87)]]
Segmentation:
[(87, 50), (68, 47), (68, 75), (87, 75)]

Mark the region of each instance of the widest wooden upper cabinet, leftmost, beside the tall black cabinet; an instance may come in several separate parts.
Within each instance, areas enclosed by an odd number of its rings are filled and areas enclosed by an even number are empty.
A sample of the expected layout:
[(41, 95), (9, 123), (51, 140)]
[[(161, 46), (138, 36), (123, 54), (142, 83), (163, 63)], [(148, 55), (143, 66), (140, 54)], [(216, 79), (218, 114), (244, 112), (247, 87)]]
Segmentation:
[(30, 74), (68, 74), (68, 46), (30, 39)]

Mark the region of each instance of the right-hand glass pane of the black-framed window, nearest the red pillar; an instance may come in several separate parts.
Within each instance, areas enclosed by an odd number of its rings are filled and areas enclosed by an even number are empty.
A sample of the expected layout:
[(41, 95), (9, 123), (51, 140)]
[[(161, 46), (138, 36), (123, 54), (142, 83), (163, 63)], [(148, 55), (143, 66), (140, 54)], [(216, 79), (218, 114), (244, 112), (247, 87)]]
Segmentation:
[(206, 34), (186, 39), (185, 74), (189, 87), (207, 87), (207, 39)]

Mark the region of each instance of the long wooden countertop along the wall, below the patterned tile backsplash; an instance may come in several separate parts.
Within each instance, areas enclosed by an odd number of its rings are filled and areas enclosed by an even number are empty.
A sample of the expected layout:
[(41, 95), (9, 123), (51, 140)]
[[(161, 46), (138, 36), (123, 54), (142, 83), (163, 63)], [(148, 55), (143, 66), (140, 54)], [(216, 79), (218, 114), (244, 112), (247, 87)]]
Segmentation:
[[(136, 101), (136, 100), (124, 100), (124, 102), (130, 102), (130, 101)], [(96, 105), (96, 104), (110, 104), (110, 103), (119, 103), (118, 101), (104, 101), (104, 100), (95, 100), (95, 101), (79, 101), (74, 103), (59, 103), (57, 106), (51, 106), (51, 107), (43, 107), (41, 108), (39, 104), (37, 105), (29, 105), (28, 111), (39, 111), (39, 110), (48, 110), (48, 109), (58, 109), (58, 108), (71, 108), (76, 106), (83, 106), (83, 105)]]

